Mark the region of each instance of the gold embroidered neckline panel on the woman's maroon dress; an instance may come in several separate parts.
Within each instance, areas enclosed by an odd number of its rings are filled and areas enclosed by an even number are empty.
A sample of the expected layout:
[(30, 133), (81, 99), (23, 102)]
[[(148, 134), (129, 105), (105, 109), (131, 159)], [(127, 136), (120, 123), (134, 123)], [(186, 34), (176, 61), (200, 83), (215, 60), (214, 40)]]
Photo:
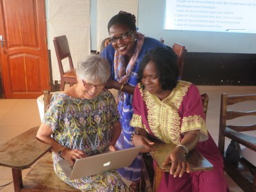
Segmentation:
[(179, 106), (184, 95), (188, 92), (191, 83), (178, 81), (177, 86), (170, 95), (160, 100), (156, 95), (152, 95), (147, 90), (143, 90), (142, 84), (139, 89), (148, 108), (148, 125), (152, 133), (164, 141), (164, 143), (178, 144), (180, 140), (180, 116)]

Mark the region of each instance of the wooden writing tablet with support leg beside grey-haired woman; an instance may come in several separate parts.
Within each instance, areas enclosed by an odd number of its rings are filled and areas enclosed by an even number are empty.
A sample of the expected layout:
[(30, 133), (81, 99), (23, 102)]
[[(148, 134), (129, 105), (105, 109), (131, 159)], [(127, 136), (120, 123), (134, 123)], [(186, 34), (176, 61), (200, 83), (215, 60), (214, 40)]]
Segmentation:
[(0, 166), (12, 168), (15, 191), (23, 187), (21, 171), (51, 150), (51, 145), (36, 140), (37, 130), (33, 127), (0, 146)]

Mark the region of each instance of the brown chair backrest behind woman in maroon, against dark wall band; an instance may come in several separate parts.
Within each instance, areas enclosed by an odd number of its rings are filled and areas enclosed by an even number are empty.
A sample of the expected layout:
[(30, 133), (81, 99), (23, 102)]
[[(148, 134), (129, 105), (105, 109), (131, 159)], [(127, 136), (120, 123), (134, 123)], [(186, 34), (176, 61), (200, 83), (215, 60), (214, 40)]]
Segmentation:
[(180, 79), (182, 79), (183, 68), (184, 68), (184, 58), (187, 50), (185, 49), (184, 45), (181, 45), (178, 43), (173, 44), (172, 49), (177, 54), (177, 65), (180, 70)]

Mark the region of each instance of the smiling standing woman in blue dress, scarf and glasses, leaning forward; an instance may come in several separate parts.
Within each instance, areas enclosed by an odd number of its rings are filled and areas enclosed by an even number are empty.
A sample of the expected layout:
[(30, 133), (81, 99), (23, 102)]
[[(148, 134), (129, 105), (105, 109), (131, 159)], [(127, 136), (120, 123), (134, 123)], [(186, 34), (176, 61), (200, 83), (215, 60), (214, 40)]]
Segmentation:
[[(130, 148), (131, 127), (130, 120), (133, 114), (132, 94), (138, 83), (137, 74), (145, 52), (155, 47), (165, 47), (161, 42), (146, 37), (136, 31), (136, 18), (131, 13), (119, 12), (108, 23), (108, 32), (111, 44), (100, 53), (111, 64), (111, 79), (106, 88), (118, 90), (118, 110), (121, 115), (122, 132), (116, 147)], [(141, 156), (138, 156), (129, 168), (118, 170), (125, 179), (132, 180), (131, 187), (136, 191), (141, 176)]]

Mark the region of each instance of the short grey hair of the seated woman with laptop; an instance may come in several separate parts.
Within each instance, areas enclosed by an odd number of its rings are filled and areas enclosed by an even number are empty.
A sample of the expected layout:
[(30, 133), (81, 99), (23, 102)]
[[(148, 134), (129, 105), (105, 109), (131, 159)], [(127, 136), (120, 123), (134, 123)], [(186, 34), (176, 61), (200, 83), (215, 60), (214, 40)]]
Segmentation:
[(110, 77), (110, 65), (107, 60), (98, 54), (90, 54), (78, 62), (77, 77), (91, 82), (106, 83)]

